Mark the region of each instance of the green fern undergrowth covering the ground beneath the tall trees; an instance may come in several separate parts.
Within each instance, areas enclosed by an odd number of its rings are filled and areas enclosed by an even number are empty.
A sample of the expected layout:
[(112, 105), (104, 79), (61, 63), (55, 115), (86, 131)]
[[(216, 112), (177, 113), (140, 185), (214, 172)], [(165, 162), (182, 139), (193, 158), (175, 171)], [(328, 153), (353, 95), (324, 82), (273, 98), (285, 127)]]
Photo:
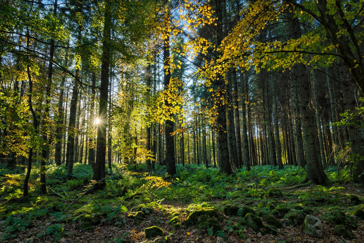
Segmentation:
[[(33, 170), (29, 181), (29, 197), (22, 196), (24, 174), (0, 167), (0, 240), (16, 237), (33, 227), (35, 220), (48, 222), (48, 227), (35, 238), (52, 237), (55, 241), (65, 234), (65, 224), (76, 222), (83, 215), (99, 213), (103, 223), (110, 223), (118, 215), (145, 205), (159, 208), (171, 217), (185, 215), (203, 208), (222, 211), (224, 205), (249, 206), (257, 215), (273, 213), (275, 208), (289, 207), (300, 212), (317, 209), (330, 219), (331, 205), (344, 208), (349, 213), (355, 206), (343, 195), (338, 180), (337, 168), (329, 168), (328, 177), (336, 184), (332, 187), (311, 185), (306, 190), (291, 190), (305, 177), (305, 169), (285, 166), (254, 166), (251, 171), (238, 170), (233, 175), (224, 175), (217, 168), (196, 165), (177, 165), (177, 176), (165, 177), (165, 166), (157, 166), (155, 173), (134, 172), (114, 164), (112, 170), (120, 171), (106, 180), (106, 189), (86, 193), (92, 185), (91, 166), (76, 163), (72, 178), (67, 178), (64, 165), (47, 166), (48, 195), (39, 195), (39, 171)], [(347, 173), (343, 169), (340, 174)], [(76, 203), (74, 203), (78, 199)], [(186, 205), (185, 212), (163, 208), (162, 201), (179, 202)], [(72, 204), (74, 203), (74, 204)], [(67, 210), (66, 210), (67, 209)], [(244, 217), (244, 215), (237, 215)], [(347, 225), (355, 225), (344, 217)], [(351, 219), (350, 219), (351, 220)], [(229, 222), (225, 222), (229, 225)], [(239, 226), (240, 227), (240, 226)], [(234, 231), (244, 238), (244, 231), (237, 225), (222, 228), (221, 237)], [(207, 233), (210, 234), (209, 230)], [(212, 233), (211, 233), (212, 234)]]

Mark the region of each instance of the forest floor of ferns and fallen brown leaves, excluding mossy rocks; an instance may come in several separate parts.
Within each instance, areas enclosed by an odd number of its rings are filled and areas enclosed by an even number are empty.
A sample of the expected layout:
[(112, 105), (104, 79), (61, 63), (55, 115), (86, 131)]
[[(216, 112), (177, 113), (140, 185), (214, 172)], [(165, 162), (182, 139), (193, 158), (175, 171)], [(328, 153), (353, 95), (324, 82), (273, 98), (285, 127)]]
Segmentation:
[[(80, 165), (81, 172), (87, 177), (87, 168)], [(188, 167), (188, 166), (187, 166)], [(150, 176), (143, 172), (123, 172), (107, 183), (102, 192), (83, 194), (87, 186), (84, 180), (73, 180), (56, 187), (60, 179), (59, 171), (53, 169), (55, 176), (49, 176), (55, 193), (22, 198), (15, 193), (16, 183), (12, 176), (2, 175), (2, 190), (6, 183), (13, 183), (14, 193), (1, 197), (0, 201), (0, 240), (1, 242), (364, 242), (364, 218), (352, 216), (355, 209), (364, 209), (364, 186), (347, 180), (335, 180), (335, 173), (330, 174), (334, 184), (329, 187), (306, 185), (296, 187), (304, 173), (300, 168), (286, 168), (284, 171), (262, 166), (253, 172), (238, 172), (226, 176), (213, 168), (179, 167), (179, 177), (162, 180), (161, 173)], [(50, 172), (51, 173), (51, 172)], [(344, 173), (342, 173), (344, 174)], [(81, 177), (81, 176), (80, 176)], [(11, 178), (11, 179), (9, 179)], [(340, 177), (339, 177), (340, 178)], [(33, 186), (36, 188), (36, 177)], [(72, 180), (71, 180), (72, 181)], [(78, 181), (78, 183), (76, 183)], [(142, 181), (142, 183), (140, 183)], [(169, 181), (169, 183), (165, 183)], [(62, 185), (62, 183), (61, 183)], [(56, 196), (56, 193), (59, 195)], [(18, 195), (18, 196), (17, 196)], [(360, 201), (353, 201), (353, 195)], [(75, 200), (81, 197), (78, 201)], [(355, 198), (355, 197), (354, 197)], [(71, 203), (69, 209), (64, 211)], [(323, 238), (313, 238), (304, 234), (301, 224), (293, 227), (277, 228), (277, 234), (255, 232), (241, 225), (242, 215), (225, 215), (226, 205), (252, 208), (263, 224), (264, 215), (274, 215), (281, 220), (289, 213), (313, 215), (321, 219), (324, 225)], [(131, 212), (142, 207), (153, 208), (146, 213), (141, 223), (130, 217)], [(275, 215), (275, 208), (287, 207), (287, 215)], [(187, 217), (199, 209), (213, 209), (221, 217), (218, 220), (221, 229), (217, 232), (187, 226)], [(84, 215), (97, 215), (100, 221), (87, 230), (83, 228)], [(171, 223), (178, 216), (180, 224)], [(201, 217), (201, 216), (200, 216)], [(341, 221), (337, 221), (341, 218)], [(115, 219), (124, 220), (116, 225)], [(334, 234), (336, 224), (351, 228), (353, 239)], [(145, 238), (147, 227), (158, 226), (163, 236)], [(260, 230), (257, 230), (260, 231)]]

